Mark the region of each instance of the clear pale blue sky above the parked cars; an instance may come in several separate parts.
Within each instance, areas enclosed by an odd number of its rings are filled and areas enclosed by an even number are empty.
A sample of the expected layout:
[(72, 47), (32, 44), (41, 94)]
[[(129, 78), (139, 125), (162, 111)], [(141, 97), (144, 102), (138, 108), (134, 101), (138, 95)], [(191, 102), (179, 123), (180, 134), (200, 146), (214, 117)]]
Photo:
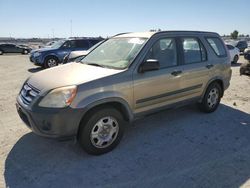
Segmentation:
[[(249, 0), (0, 0), (0, 37), (205, 30), (250, 34)], [(72, 27), (71, 27), (72, 26)]]

